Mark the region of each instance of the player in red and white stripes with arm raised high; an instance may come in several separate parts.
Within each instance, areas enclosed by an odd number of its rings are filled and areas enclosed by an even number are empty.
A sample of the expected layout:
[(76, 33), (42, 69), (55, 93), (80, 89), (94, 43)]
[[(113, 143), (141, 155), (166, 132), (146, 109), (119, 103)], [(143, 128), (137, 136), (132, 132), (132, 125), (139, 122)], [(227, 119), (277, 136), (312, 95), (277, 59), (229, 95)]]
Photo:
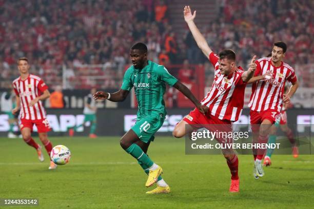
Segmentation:
[[(192, 15), (190, 7), (185, 6), (185, 22), (188, 24), (199, 48), (213, 65), (215, 77), (210, 91), (201, 101), (202, 105), (208, 107), (208, 112), (204, 115), (198, 109), (191, 111), (174, 128), (173, 136), (177, 138), (201, 127), (209, 131), (216, 131), (220, 127), (219, 131), (232, 132), (232, 122), (238, 120), (243, 109), (246, 82), (253, 76), (256, 69), (254, 64), (256, 56), (252, 58), (249, 69), (244, 72), (241, 67), (235, 65), (235, 53), (232, 50), (225, 49), (219, 53), (219, 56), (215, 55), (195, 25), (195, 15), (196, 11)], [(220, 143), (226, 143), (223, 138), (217, 138), (217, 140)], [(232, 139), (230, 140), (232, 143)], [(233, 149), (223, 149), (222, 151), (231, 172), (229, 191), (239, 192), (237, 154)]]

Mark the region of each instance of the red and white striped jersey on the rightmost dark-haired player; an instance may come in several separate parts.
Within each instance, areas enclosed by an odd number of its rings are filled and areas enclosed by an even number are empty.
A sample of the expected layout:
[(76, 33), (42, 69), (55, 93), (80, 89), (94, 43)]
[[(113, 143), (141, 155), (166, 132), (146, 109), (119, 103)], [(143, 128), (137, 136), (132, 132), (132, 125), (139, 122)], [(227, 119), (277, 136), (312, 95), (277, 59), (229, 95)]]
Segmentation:
[(274, 67), (270, 57), (258, 59), (256, 64), (257, 69), (254, 76), (263, 75), (266, 71), (271, 71), (273, 76), (270, 79), (265, 78), (252, 84), (252, 94), (248, 107), (252, 111), (258, 112), (268, 109), (280, 112), (286, 80), (291, 83), (297, 81), (295, 70), (284, 62), (281, 63), (281, 66)]

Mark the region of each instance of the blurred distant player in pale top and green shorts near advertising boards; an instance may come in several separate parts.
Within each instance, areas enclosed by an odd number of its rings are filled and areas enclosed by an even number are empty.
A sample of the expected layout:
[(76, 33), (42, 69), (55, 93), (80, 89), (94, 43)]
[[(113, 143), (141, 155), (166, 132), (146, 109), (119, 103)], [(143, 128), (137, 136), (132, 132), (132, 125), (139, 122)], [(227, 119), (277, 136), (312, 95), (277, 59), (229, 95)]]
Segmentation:
[(96, 93), (96, 89), (92, 88), (90, 90), (90, 94), (87, 95), (87, 101), (85, 103), (85, 107), (83, 110), (84, 121), (79, 126), (69, 129), (70, 136), (73, 136), (74, 132), (76, 132), (78, 128), (83, 127), (86, 122), (90, 122), (89, 138), (97, 138), (97, 135), (95, 134), (96, 127), (97, 127), (97, 118), (96, 118), (97, 107), (96, 107), (96, 101), (93, 100), (93, 94), (95, 93)]

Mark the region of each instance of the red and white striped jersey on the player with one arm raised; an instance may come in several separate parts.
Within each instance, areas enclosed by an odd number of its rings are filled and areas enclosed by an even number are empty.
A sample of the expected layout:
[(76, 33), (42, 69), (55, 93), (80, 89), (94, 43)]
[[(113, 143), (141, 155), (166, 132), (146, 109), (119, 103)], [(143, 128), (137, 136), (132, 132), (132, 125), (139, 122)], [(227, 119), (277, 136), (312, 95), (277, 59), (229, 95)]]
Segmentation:
[(237, 121), (242, 113), (246, 82), (242, 80), (243, 69), (230, 75), (220, 73), (218, 56), (210, 53), (209, 60), (215, 69), (215, 78), (210, 91), (201, 101), (208, 107), (208, 113), (230, 121)]

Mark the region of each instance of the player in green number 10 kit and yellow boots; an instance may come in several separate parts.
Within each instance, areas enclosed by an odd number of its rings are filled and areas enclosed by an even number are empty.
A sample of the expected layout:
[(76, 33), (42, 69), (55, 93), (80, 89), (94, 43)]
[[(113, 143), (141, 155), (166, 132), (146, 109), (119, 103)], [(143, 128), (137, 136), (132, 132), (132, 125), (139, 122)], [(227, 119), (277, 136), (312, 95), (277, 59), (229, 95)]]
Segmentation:
[(149, 187), (157, 182), (156, 189), (147, 194), (169, 193), (170, 187), (161, 177), (163, 172), (161, 166), (155, 164), (146, 154), (150, 142), (154, 140), (154, 134), (161, 128), (167, 114), (163, 99), (166, 83), (182, 92), (201, 113), (205, 114), (208, 108), (202, 106), (191, 91), (173, 77), (164, 66), (147, 59), (145, 44), (133, 45), (130, 57), (133, 65), (125, 72), (121, 89), (112, 94), (98, 91), (93, 98), (123, 101), (134, 87), (138, 100), (136, 123), (121, 138), (120, 144), (127, 153), (138, 160), (145, 173), (148, 174), (146, 186)]

